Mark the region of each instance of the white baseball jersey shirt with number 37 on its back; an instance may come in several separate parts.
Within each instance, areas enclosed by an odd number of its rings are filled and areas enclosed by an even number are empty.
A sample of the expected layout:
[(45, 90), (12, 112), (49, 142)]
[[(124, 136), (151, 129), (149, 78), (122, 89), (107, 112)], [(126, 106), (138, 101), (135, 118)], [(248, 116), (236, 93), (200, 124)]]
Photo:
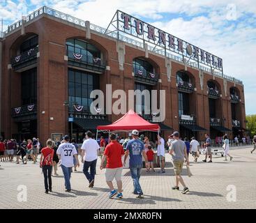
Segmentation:
[(61, 165), (65, 167), (74, 166), (73, 155), (77, 154), (77, 150), (73, 144), (68, 142), (60, 144), (57, 149), (57, 154), (61, 155)]

